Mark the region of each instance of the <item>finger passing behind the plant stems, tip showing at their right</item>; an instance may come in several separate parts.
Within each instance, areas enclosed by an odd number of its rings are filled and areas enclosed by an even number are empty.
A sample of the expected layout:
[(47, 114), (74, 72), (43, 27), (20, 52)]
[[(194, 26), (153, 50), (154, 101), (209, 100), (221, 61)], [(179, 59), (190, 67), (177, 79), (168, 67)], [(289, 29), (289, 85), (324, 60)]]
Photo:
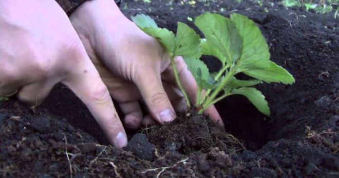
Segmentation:
[[(198, 86), (197, 83), (192, 75), (192, 73), (189, 71), (187, 65), (183, 61), (183, 58), (178, 56), (175, 57), (175, 63), (177, 66), (180, 82), (184, 88), (184, 90), (189, 95), (189, 98), (192, 103), (196, 102), (197, 92), (198, 92)], [(169, 74), (173, 73), (173, 69), (169, 68), (170, 72)], [(175, 81), (174, 74), (172, 75), (172, 81)], [(167, 76), (171, 77), (171, 76)], [(167, 78), (168, 80), (169, 78)], [(214, 105), (210, 106), (208, 109), (204, 111), (205, 114), (210, 115), (212, 120), (216, 121), (217, 123), (223, 125), (223, 122), (221, 120), (221, 117), (218, 113), (218, 111), (215, 109)]]

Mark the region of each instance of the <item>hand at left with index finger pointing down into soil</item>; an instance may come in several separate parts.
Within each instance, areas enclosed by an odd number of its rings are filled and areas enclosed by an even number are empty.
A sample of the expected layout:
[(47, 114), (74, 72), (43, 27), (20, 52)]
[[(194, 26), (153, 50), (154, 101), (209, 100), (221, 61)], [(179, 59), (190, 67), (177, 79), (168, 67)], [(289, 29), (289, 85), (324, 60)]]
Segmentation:
[(0, 32), (0, 95), (17, 91), (20, 100), (39, 105), (62, 82), (88, 107), (109, 142), (126, 146), (107, 87), (55, 1), (0, 1)]

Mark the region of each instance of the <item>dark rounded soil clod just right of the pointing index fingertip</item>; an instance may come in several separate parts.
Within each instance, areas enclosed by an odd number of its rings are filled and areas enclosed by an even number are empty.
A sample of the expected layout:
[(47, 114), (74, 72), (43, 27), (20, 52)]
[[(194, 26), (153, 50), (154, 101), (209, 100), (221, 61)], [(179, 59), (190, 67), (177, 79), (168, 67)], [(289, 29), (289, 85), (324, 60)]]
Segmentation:
[(155, 146), (148, 142), (145, 134), (135, 134), (128, 142), (126, 150), (133, 152), (143, 160), (153, 161), (155, 159)]

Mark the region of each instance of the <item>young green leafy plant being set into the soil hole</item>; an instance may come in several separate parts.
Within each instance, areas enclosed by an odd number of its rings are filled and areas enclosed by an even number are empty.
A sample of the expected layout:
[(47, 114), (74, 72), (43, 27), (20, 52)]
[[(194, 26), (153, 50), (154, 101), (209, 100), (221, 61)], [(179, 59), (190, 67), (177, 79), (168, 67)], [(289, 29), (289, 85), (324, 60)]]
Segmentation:
[[(140, 17), (143, 18), (143, 24), (148, 24), (147, 28), (138, 21), (138, 19), (141, 20)], [(156, 37), (170, 53), (171, 58), (181, 55), (176, 53), (176, 48), (187, 49), (183, 57), (198, 85), (195, 107), (199, 109), (200, 114), (223, 98), (240, 94), (246, 96), (260, 112), (270, 115), (270, 108), (265, 96), (252, 86), (262, 82), (284, 84), (295, 82), (288, 71), (270, 61), (270, 52), (265, 38), (255, 23), (246, 16), (233, 13), (231, 18), (226, 18), (209, 12), (198, 16), (195, 19), (195, 25), (205, 37), (200, 39), (198, 47), (195, 43), (199, 37), (194, 30), (182, 23), (178, 24), (177, 37), (185, 36), (185, 41), (191, 43), (178, 43), (178, 45), (175, 43), (176, 38), (173, 33), (166, 29), (159, 30), (149, 17), (141, 15), (139, 18), (134, 17), (134, 21), (147, 34)], [(153, 27), (150, 28), (149, 24), (152, 24)], [(185, 31), (190, 31), (187, 34), (191, 35), (178, 35), (182, 33), (179, 30), (180, 26), (184, 26)], [(152, 33), (153, 31), (162, 31), (162, 33)], [(172, 42), (167, 41), (169, 37), (166, 36), (170, 36), (169, 34), (173, 36), (170, 38)], [(194, 49), (194, 52), (189, 53), (190, 49)], [(221, 68), (217, 73), (211, 74), (208, 67), (199, 60), (201, 53), (218, 58)], [(239, 73), (244, 73), (254, 79), (238, 80), (236, 76)]]

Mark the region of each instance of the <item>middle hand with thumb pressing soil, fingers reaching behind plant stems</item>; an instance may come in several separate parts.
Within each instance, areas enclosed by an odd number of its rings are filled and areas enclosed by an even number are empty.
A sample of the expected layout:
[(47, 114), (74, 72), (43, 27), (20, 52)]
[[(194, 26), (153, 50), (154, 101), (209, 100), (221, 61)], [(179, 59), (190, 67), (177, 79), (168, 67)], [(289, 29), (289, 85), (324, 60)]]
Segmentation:
[[(161, 124), (170, 122), (175, 118), (174, 109), (186, 109), (168, 54), (155, 38), (129, 21), (114, 1), (87, 1), (70, 19), (110, 94), (124, 112), (127, 127), (136, 129), (142, 122), (150, 122), (151, 117)], [(194, 77), (181, 57), (175, 61), (181, 83), (194, 102)], [(151, 114), (144, 119), (138, 103), (141, 98)], [(205, 113), (222, 125), (214, 106)]]

